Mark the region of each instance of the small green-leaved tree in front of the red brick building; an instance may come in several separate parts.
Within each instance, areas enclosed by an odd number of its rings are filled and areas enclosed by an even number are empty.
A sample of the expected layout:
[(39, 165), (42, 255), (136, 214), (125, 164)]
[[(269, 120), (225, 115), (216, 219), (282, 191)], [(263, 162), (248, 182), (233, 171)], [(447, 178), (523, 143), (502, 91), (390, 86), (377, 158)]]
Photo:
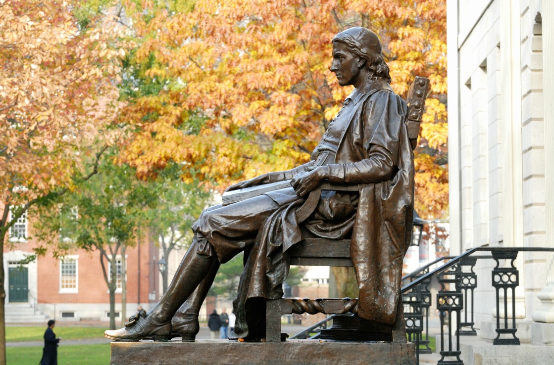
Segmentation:
[[(146, 220), (156, 194), (135, 178), (134, 169), (113, 163), (107, 154), (98, 175), (74, 186), (48, 204), (39, 205), (35, 234), (55, 256), (72, 249), (100, 253), (102, 274), (110, 295), (110, 329), (115, 329), (115, 293), (121, 288), (122, 320), (126, 308), (126, 249), (136, 243), (137, 228)], [(120, 272), (117, 271), (120, 267)]]

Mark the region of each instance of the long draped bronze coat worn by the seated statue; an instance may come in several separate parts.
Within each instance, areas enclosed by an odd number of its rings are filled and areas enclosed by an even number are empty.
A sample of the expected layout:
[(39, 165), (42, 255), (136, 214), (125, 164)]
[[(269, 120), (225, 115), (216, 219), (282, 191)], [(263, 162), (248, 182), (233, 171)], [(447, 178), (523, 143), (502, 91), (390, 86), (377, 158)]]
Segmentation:
[[(351, 240), (360, 288), (358, 315), (392, 325), (413, 219), (414, 162), (404, 123), (407, 106), (382, 80), (367, 82), (350, 99), (354, 106), (343, 107), (350, 121), (342, 132), (335, 164), (329, 165), (329, 181), (357, 184), (360, 189)], [(286, 251), (303, 239), (295, 210), (304, 200), (291, 190), (280, 194), (286, 204), (264, 223), (240, 280), (234, 300), (236, 337), (246, 337), (258, 326), (261, 301), (256, 298), (283, 295), (281, 284), (289, 269)], [(283, 199), (287, 194), (289, 201)]]

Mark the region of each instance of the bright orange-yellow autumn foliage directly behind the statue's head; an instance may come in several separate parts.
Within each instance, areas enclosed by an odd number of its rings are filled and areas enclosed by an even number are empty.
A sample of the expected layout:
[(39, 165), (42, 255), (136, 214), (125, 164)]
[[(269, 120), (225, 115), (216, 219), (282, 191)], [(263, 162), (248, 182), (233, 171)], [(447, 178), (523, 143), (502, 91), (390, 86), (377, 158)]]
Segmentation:
[(124, 3), (140, 41), (135, 67), (150, 62), (143, 76), (164, 85), (130, 100), (119, 121), (136, 132), (122, 160), (142, 176), (175, 161), (184, 180), (221, 190), (309, 160), (352, 91), (329, 71), (331, 39), (359, 25), (381, 37), (397, 93), (405, 95), (416, 75), (430, 79), (416, 209), (422, 217), (447, 214), (444, 0)]

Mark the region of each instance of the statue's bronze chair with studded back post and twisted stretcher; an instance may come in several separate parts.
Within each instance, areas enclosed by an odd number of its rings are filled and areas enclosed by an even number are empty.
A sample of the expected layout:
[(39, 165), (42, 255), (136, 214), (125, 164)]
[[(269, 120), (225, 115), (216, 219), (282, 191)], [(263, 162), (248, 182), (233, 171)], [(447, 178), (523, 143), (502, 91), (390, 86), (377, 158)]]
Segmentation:
[[(429, 80), (416, 76), (408, 91), (408, 115), (407, 129), (412, 149), (416, 148), (419, 134), (419, 123), (423, 115), (425, 98)], [(319, 202), (321, 192), (334, 191), (359, 191), (357, 185), (338, 186), (329, 183), (322, 184), (317, 190), (312, 191), (305, 204), (296, 211), (297, 220), (304, 221), (314, 211)], [(350, 257), (350, 239), (333, 240), (324, 238), (306, 238), (289, 249), (289, 263), (291, 265), (313, 266), (342, 266), (352, 267)], [(265, 317), (265, 341), (285, 341), (281, 335), (281, 315), (284, 314), (346, 314), (357, 312), (357, 299), (276, 299), (266, 300)], [(406, 324), (404, 322), (402, 295), (399, 296), (396, 321), (392, 327), (382, 326), (361, 320), (360, 328), (365, 327), (365, 338), (361, 341), (389, 341), (406, 342)]]

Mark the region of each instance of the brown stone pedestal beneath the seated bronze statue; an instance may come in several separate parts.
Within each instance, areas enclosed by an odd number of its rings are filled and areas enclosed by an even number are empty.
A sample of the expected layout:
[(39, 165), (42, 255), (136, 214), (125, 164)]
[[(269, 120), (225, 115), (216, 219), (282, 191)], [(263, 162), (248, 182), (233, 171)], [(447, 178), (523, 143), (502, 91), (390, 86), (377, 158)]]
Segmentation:
[(413, 343), (332, 342), (112, 342), (111, 365), (415, 364)]

